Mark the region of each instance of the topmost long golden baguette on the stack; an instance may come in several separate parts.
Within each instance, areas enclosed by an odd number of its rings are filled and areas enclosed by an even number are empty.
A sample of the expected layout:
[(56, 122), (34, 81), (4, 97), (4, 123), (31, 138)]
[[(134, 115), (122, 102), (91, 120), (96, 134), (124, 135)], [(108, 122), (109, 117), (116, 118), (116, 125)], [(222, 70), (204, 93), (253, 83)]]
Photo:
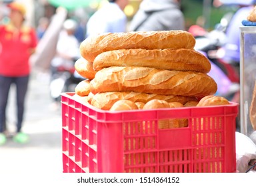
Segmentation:
[(148, 31), (129, 33), (101, 33), (85, 39), (80, 45), (83, 58), (93, 62), (102, 52), (118, 49), (190, 48), (195, 38), (187, 31)]

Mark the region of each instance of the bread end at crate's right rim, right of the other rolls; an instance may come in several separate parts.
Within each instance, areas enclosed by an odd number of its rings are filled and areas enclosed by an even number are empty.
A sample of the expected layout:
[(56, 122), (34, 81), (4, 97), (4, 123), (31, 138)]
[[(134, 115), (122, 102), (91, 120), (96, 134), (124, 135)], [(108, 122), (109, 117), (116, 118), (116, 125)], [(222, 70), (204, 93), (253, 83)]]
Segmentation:
[(205, 96), (201, 98), (197, 106), (217, 106), (217, 105), (228, 105), (229, 101), (221, 96)]

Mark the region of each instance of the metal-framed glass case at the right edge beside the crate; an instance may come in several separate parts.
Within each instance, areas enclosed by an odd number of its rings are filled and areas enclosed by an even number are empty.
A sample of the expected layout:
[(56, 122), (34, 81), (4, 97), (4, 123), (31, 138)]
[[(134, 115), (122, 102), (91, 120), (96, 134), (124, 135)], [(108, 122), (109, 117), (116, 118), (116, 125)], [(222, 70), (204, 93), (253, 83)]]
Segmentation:
[(254, 131), (250, 107), (256, 80), (256, 27), (240, 27), (240, 128), (250, 136)]

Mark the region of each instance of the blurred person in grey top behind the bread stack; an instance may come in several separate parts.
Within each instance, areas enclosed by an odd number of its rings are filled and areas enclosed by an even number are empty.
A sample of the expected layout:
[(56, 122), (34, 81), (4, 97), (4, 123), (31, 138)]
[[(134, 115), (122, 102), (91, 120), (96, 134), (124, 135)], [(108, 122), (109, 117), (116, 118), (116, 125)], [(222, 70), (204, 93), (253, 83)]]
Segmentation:
[(180, 6), (181, 0), (143, 0), (129, 30), (185, 30), (185, 19)]

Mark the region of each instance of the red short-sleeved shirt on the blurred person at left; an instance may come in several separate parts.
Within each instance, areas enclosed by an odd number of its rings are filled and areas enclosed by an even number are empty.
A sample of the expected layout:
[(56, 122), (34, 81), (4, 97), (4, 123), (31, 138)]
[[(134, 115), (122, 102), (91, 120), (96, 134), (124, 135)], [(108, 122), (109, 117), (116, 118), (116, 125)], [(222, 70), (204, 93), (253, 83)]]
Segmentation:
[(34, 29), (0, 25), (0, 75), (27, 76), (30, 73), (31, 49), (37, 45)]

